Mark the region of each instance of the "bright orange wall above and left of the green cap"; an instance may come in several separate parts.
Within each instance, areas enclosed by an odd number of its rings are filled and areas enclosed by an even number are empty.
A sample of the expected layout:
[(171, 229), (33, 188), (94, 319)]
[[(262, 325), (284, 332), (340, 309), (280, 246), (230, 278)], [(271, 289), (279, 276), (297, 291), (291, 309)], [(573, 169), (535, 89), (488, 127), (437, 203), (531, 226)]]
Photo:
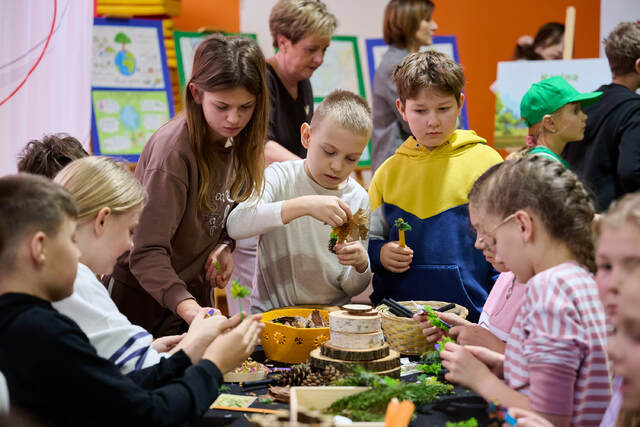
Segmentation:
[[(457, 36), (467, 77), (469, 125), (493, 144), (497, 63), (512, 58), (518, 37), (535, 36), (550, 21), (564, 23), (568, 6), (576, 7), (574, 58), (599, 56), (600, 0), (435, 0), (437, 34)], [(595, 89), (595, 88), (594, 88)]]

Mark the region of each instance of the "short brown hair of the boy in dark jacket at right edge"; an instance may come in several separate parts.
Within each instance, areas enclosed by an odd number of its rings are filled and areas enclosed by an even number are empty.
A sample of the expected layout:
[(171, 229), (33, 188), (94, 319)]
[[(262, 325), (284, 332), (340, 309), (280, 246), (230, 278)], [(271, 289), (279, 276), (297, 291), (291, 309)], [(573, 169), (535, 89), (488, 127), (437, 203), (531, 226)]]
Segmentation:
[(621, 22), (604, 39), (604, 51), (614, 76), (633, 73), (640, 58), (640, 24)]

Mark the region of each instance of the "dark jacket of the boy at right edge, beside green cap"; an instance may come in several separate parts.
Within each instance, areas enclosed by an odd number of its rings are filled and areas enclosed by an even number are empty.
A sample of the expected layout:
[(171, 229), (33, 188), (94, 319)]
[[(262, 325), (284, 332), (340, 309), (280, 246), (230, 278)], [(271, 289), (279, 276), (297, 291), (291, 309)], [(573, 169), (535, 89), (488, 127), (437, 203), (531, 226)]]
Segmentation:
[(584, 139), (562, 155), (593, 191), (596, 210), (640, 188), (640, 95), (619, 84), (598, 88), (602, 98), (584, 108)]

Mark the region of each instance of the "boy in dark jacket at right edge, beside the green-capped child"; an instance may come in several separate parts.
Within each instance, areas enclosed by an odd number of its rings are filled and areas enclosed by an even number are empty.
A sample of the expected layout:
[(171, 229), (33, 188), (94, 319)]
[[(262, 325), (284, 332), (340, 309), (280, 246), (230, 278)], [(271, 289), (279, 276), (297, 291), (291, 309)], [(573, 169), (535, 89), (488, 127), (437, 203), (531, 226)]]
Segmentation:
[(563, 157), (595, 193), (596, 209), (607, 210), (623, 194), (640, 189), (640, 24), (622, 22), (605, 39), (613, 78), (598, 88), (596, 104), (584, 108), (584, 139)]

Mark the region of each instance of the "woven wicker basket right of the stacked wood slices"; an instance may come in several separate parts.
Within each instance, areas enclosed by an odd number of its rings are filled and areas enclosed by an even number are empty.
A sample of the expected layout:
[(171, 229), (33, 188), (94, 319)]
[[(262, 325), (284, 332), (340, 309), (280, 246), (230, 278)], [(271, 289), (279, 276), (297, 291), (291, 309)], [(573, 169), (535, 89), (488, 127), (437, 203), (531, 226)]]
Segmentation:
[[(399, 303), (409, 310), (414, 311), (414, 307), (411, 302), (399, 301)], [(448, 304), (447, 302), (442, 301), (416, 301), (416, 303), (420, 305), (428, 305), (434, 309)], [(384, 336), (391, 348), (401, 354), (407, 355), (419, 355), (425, 351), (433, 349), (434, 344), (427, 342), (424, 335), (422, 335), (420, 325), (413, 319), (408, 317), (398, 317), (391, 314), (389, 312), (389, 307), (384, 304), (379, 305), (376, 309), (380, 312), (380, 316), (382, 318), (382, 330), (384, 331)], [(456, 304), (455, 308), (447, 311), (447, 313), (457, 314), (464, 319), (469, 314), (469, 310)]]

